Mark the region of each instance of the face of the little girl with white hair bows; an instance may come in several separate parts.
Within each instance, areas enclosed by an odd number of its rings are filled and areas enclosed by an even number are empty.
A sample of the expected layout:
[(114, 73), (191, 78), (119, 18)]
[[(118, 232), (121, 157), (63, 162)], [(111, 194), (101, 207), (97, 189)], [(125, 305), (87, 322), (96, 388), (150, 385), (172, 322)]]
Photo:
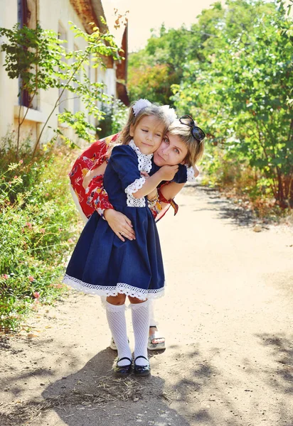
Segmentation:
[(137, 126), (130, 126), (130, 136), (143, 154), (152, 154), (161, 144), (164, 129), (164, 123), (156, 116), (144, 116)]

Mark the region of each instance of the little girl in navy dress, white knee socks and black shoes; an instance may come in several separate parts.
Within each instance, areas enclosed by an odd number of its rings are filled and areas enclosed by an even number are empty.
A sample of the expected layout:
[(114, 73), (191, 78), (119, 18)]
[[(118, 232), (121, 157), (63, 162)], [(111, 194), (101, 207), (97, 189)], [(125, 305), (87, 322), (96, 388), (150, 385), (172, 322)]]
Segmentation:
[(118, 361), (114, 371), (130, 373), (132, 354), (127, 341), (125, 299), (132, 308), (134, 329), (134, 373), (150, 372), (147, 358), (149, 301), (164, 293), (164, 268), (159, 236), (145, 196), (162, 180), (174, 178), (178, 165), (164, 165), (146, 179), (151, 157), (160, 146), (168, 122), (160, 107), (151, 105), (131, 109), (127, 125), (114, 146), (104, 175), (105, 190), (113, 207), (132, 222), (136, 239), (121, 241), (97, 212), (80, 235), (70, 259), (64, 282), (74, 288), (107, 297), (107, 320), (117, 345)]

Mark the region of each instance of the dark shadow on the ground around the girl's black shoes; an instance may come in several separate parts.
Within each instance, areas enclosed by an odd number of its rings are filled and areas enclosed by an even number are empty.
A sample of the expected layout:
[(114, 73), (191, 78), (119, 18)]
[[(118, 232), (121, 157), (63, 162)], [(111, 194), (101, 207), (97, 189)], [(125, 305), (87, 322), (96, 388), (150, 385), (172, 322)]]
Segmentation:
[[(114, 377), (115, 355), (109, 348), (100, 351), (79, 371), (51, 383), (43, 390), (43, 398), (19, 401), (6, 413), (1, 410), (1, 424), (57, 425), (59, 418), (60, 425), (68, 426), (129, 426), (137, 425), (137, 421), (142, 425), (189, 425), (170, 408), (171, 400), (160, 377)], [(161, 423), (156, 423), (158, 419)]]

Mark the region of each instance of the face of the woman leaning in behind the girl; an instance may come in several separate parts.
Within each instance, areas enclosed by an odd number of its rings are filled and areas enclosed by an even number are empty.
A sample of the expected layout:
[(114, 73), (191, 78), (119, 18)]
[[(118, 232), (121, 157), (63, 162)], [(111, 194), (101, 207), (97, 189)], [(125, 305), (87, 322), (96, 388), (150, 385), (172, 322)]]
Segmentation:
[(159, 167), (182, 164), (187, 153), (188, 149), (178, 135), (166, 133), (161, 145), (154, 153), (154, 163)]

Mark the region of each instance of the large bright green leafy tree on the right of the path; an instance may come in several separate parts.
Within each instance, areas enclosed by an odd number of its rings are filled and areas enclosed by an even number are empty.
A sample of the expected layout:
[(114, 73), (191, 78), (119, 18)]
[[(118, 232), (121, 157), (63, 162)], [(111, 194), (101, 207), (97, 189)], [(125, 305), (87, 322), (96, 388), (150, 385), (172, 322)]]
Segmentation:
[(216, 42), (222, 48), (209, 63), (188, 63), (183, 81), (174, 86), (174, 102), (204, 123), (225, 158), (258, 170), (260, 184), (286, 207), (293, 202), (292, 21), (283, 1), (227, 5)]

